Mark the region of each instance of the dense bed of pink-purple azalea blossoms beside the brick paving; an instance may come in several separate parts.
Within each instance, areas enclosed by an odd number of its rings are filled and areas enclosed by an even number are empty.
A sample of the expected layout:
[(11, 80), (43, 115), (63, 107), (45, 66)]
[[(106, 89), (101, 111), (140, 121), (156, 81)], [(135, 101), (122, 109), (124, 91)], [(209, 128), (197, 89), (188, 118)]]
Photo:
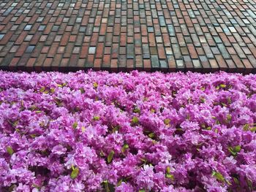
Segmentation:
[(0, 72), (0, 191), (256, 190), (256, 75)]

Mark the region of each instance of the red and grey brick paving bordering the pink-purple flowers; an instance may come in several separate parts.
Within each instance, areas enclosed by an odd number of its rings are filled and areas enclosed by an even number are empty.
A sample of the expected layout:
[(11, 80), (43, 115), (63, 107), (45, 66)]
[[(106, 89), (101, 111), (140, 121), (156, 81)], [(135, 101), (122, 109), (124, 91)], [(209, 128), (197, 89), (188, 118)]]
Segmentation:
[(256, 72), (256, 1), (0, 1), (0, 68)]

